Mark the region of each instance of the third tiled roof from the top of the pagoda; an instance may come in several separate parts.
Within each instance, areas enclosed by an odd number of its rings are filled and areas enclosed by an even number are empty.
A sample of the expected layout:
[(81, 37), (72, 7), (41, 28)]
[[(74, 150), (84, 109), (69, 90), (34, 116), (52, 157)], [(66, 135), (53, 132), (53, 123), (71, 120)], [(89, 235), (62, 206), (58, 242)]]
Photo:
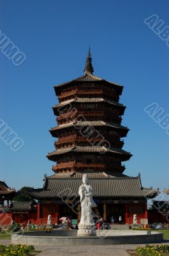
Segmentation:
[(56, 127), (53, 127), (50, 129), (50, 131), (57, 131), (60, 129), (64, 129), (67, 127), (77, 127), (77, 126), (110, 126), (110, 127), (114, 127), (117, 129), (124, 129), (124, 130), (129, 130), (128, 127), (119, 125), (119, 124), (112, 124), (109, 122), (103, 122), (103, 121), (75, 121), (75, 122), (70, 122), (70, 123), (66, 123), (66, 124), (61, 124), (58, 125)]

